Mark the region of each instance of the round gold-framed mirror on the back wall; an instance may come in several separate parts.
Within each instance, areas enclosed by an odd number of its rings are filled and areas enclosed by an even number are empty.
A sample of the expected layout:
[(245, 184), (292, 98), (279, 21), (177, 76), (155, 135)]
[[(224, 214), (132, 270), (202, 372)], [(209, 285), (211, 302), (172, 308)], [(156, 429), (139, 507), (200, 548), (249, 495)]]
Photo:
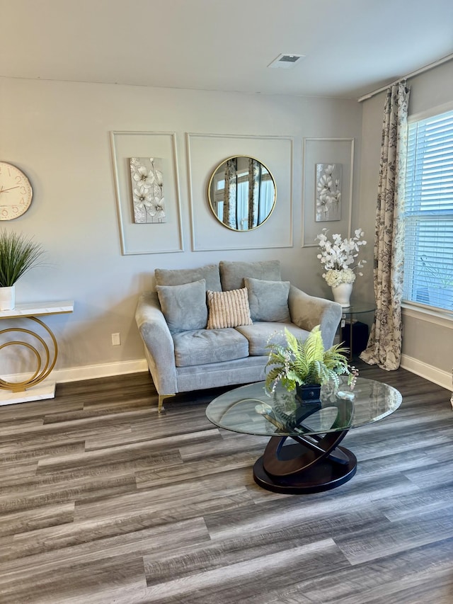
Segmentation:
[(267, 166), (248, 155), (228, 157), (212, 173), (207, 197), (214, 216), (233, 231), (251, 231), (268, 220), (277, 187)]

